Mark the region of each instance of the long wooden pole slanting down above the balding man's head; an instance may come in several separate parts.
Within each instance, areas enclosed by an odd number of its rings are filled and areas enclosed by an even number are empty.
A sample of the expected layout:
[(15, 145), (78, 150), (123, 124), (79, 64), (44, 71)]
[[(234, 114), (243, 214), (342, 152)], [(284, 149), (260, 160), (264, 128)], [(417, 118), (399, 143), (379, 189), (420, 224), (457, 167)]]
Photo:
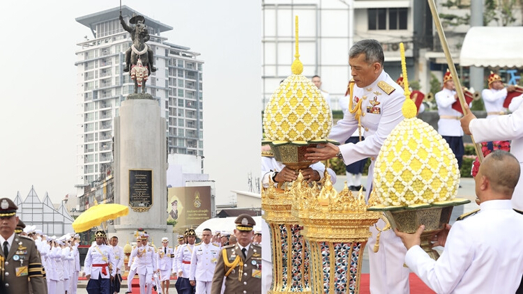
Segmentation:
[[(457, 77), (457, 71), (454, 65), (454, 61), (452, 60), (452, 56), (450, 56), (450, 50), (448, 49), (447, 39), (445, 38), (445, 32), (443, 31), (443, 27), (441, 26), (441, 20), (439, 20), (438, 11), (436, 9), (436, 3), (434, 3), (434, 0), (427, 1), (429, 2), (430, 13), (432, 13), (432, 20), (434, 20), (434, 24), (436, 25), (436, 29), (438, 30), (441, 47), (443, 47), (443, 51), (445, 52), (445, 57), (447, 59), (450, 74), (452, 75), (454, 83), (456, 85), (457, 98), (460, 100), (460, 105), (463, 113), (466, 114), (467, 111), (465, 111), (464, 105), (467, 104), (467, 102), (465, 102), (460, 79), (459, 77)], [(472, 134), (470, 135), (470, 138), (472, 140), (472, 143), (474, 144), (476, 155), (478, 155), (478, 161), (481, 163), (483, 161), (483, 152), (481, 152), (480, 144), (477, 144), (476, 141), (474, 141), (474, 137), (472, 136)]]

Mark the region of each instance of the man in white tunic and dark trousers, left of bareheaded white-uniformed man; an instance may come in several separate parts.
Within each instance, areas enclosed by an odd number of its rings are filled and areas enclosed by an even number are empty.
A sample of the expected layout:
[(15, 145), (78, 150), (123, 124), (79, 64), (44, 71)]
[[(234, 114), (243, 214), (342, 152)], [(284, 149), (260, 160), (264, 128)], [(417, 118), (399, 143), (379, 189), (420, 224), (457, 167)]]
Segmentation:
[(176, 268), (178, 269), (178, 280), (174, 287), (179, 294), (195, 293), (195, 287), (189, 282), (190, 277), (190, 260), (192, 252), (195, 249), (196, 233), (193, 229), (185, 231), (185, 238), (187, 244), (180, 247), (178, 256), (176, 257)]

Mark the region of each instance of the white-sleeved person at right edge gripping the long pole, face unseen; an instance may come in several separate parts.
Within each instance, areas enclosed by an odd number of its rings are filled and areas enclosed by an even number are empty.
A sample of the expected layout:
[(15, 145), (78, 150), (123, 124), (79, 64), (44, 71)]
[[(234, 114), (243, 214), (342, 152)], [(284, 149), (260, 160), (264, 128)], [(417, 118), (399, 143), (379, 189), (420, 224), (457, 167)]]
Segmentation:
[[(461, 120), (465, 134), (472, 134), (474, 139), (481, 141), (512, 140), (510, 153), (520, 162), (523, 170), (523, 103), (519, 105), (513, 114), (498, 116), (495, 118), (476, 118), (467, 109), (467, 115)], [(512, 207), (516, 212), (523, 214), (523, 173), (514, 190)], [(523, 279), (517, 293), (523, 293)]]

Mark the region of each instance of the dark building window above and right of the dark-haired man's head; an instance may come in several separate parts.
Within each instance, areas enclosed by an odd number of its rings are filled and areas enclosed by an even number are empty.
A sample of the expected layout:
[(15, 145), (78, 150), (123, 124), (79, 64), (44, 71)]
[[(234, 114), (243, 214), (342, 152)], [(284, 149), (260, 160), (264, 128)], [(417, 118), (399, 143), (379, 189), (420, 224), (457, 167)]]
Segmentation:
[(407, 29), (407, 8), (369, 8), (367, 17), (369, 31)]

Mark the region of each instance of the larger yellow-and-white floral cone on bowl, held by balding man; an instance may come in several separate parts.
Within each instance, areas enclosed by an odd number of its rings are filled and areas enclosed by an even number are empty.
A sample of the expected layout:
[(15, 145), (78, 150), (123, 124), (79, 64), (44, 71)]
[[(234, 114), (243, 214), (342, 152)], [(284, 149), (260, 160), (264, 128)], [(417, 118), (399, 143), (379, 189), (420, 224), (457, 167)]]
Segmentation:
[(414, 233), (423, 224), (421, 247), (432, 258), (439, 254), (430, 241), (450, 220), (453, 206), (469, 203), (456, 199), (460, 180), (457, 160), (445, 139), (427, 123), (416, 118), (416, 105), (410, 99), (407, 70), (402, 68), (407, 99), (405, 117), (381, 146), (374, 167), (372, 193), (380, 204), (369, 210), (384, 211), (392, 229)]

